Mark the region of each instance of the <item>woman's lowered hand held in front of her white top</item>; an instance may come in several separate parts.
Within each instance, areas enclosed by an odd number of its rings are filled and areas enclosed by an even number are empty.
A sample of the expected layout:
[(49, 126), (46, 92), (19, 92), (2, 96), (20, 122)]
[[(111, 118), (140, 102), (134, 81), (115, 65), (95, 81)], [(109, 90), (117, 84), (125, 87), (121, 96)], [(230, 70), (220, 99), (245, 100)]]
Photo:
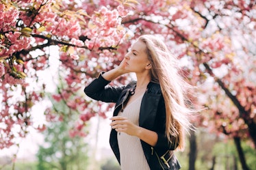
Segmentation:
[(117, 132), (125, 132), (131, 136), (138, 136), (140, 126), (133, 124), (127, 117), (114, 116), (110, 118), (112, 123), (110, 126)]

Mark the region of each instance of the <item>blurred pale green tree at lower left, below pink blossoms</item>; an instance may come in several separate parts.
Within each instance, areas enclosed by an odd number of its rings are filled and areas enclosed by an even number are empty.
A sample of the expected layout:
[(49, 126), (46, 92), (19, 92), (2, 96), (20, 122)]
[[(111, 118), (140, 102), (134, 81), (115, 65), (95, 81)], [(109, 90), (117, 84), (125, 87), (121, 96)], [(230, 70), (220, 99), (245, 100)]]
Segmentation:
[[(88, 160), (88, 147), (84, 143), (84, 130), (79, 128), (75, 134), (69, 130), (73, 126), (72, 120), (79, 117), (69, 109), (64, 100), (54, 103), (55, 111), (61, 114), (51, 114), (51, 123), (44, 131), (44, 144), (38, 151), (38, 170), (40, 169), (84, 169)], [(79, 124), (77, 124), (79, 126)], [(81, 126), (84, 127), (84, 126)], [(71, 137), (72, 136), (72, 137)]]

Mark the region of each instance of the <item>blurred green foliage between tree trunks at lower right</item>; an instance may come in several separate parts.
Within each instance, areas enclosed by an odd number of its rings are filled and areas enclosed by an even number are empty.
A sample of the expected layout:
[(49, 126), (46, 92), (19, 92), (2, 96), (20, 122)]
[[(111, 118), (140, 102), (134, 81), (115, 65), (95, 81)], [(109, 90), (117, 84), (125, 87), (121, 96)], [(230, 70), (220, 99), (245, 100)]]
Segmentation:
[[(198, 154), (195, 169), (211, 169), (215, 157), (216, 164), (214, 169), (216, 170), (228, 169), (227, 166), (232, 169), (235, 165), (237, 165), (238, 170), (242, 170), (233, 139), (225, 139), (223, 135), (222, 137), (218, 137), (216, 134), (209, 134), (207, 131), (200, 128), (196, 132), (196, 143)], [(250, 145), (248, 145), (248, 141), (242, 141), (242, 147), (248, 167), (255, 169), (255, 150), (251, 149)], [(189, 150), (185, 150), (185, 152), (176, 153), (182, 169), (188, 169), (189, 152)]]

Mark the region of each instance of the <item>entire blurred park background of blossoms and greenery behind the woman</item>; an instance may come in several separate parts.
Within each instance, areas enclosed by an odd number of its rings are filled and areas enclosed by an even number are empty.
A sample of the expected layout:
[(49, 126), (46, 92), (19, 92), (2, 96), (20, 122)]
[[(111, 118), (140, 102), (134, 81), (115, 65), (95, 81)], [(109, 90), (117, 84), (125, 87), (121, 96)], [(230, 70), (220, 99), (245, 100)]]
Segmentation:
[(153, 34), (205, 108), (176, 153), (181, 169), (255, 170), (255, 28), (254, 0), (0, 1), (0, 169), (120, 169), (108, 144), (114, 104), (83, 90)]

